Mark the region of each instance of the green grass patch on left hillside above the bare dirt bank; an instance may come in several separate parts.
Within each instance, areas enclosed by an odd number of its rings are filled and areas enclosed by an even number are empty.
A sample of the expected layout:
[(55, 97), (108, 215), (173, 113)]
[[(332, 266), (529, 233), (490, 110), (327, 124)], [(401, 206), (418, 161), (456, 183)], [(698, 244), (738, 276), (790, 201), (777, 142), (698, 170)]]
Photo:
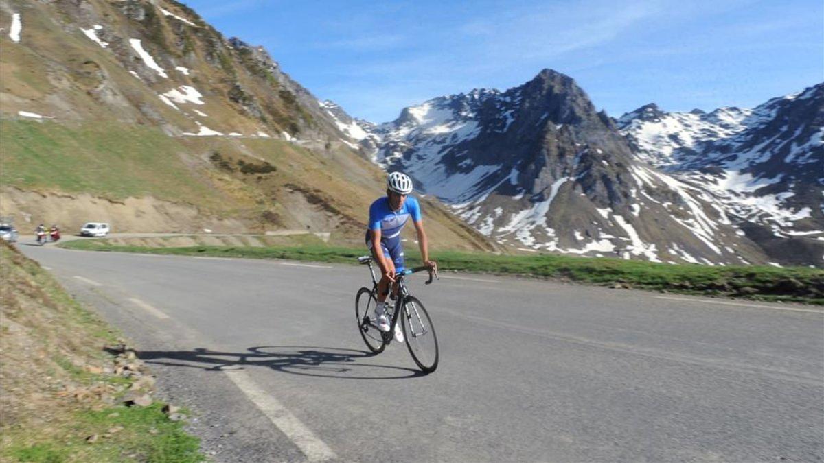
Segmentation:
[(110, 199), (152, 195), (177, 202), (218, 202), (213, 190), (180, 160), (178, 154), (190, 148), (158, 129), (4, 120), (0, 147), (2, 185)]

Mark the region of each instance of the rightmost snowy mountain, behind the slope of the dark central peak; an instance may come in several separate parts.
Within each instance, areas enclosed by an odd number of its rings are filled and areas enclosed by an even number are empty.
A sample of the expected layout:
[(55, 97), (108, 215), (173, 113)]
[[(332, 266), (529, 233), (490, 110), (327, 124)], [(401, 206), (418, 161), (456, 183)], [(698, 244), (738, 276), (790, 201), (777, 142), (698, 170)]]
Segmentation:
[(704, 189), (771, 258), (821, 262), (824, 83), (753, 110), (645, 105), (619, 126), (640, 158)]

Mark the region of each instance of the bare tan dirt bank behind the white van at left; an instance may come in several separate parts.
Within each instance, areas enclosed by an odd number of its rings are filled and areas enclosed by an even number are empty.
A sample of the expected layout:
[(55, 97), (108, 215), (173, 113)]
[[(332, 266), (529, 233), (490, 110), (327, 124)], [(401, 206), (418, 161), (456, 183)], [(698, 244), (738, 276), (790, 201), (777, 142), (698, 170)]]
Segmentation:
[(39, 223), (56, 223), (75, 232), (85, 222), (108, 222), (113, 232), (246, 232), (248, 225), (234, 218), (213, 217), (191, 205), (154, 199), (122, 201), (91, 194), (40, 193), (16, 188), (0, 190), (0, 215), (12, 216), (21, 232)]

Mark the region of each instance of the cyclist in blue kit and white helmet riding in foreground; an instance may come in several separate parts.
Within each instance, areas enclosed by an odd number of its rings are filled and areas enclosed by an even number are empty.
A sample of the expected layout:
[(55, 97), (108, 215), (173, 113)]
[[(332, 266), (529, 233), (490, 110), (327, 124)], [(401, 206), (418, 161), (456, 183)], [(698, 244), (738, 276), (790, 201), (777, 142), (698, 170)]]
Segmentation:
[[(381, 268), (381, 281), (377, 283), (377, 306), (375, 322), (381, 331), (389, 331), (389, 319), (386, 317), (386, 289), (389, 283), (395, 283), (395, 275), (404, 270), (404, 248), (400, 242), (400, 231), (412, 218), (415, 232), (418, 233), (418, 246), (424, 265), (437, 269), (437, 264), (429, 260), (428, 242), (424, 232), (418, 199), (410, 197), (412, 179), (402, 172), (392, 172), (386, 177), (386, 196), (376, 199), (369, 207), (369, 226), (366, 232), (366, 246)], [(382, 250), (382, 252), (377, 252)], [(397, 284), (392, 285), (393, 294)], [(400, 324), (395, 325), (395, 339), (403, 342), (404, 334)]]

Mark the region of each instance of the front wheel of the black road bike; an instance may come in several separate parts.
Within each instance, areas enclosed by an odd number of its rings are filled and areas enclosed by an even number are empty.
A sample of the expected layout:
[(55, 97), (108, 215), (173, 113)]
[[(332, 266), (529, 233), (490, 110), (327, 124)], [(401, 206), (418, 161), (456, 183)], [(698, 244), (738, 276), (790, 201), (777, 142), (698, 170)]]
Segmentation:
[(416, 297), (406, 297), (400, 320), (412, 360), (423, 372), (434, 372), (438, 367), (438, 336), (424, 304)]

